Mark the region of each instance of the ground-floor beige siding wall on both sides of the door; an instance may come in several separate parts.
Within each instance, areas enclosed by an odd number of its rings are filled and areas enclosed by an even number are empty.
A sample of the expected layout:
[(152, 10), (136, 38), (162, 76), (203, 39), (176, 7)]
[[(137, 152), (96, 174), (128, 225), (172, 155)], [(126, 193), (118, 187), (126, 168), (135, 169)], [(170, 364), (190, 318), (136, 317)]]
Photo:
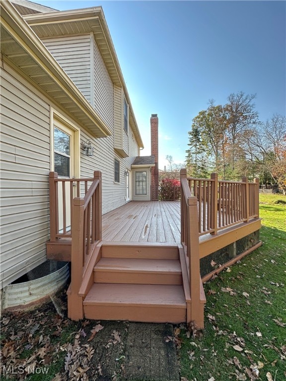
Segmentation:
[[(46, 258), (49, 240), (49, 172), (51, 107), (45, 95), (4, 64), (1, 69), (1, 280), (0, 287), (26, 273), (26, 266)], [(59, 109), (58, 109), (59, 110)], [(66, 119), (76, 124), (60, 111)], [(80, 149), (80, 176), (102, 172), (102, 212), (126, 202), (126, 170), (139, 147), (128, 129), (129, 156), (114, 150), (114, 135), (96, 139), (83, 126), (80, 141), (92, 141), (94, 154)], [(114, 182), (114, 158), (120, 162), (120, 183)]]

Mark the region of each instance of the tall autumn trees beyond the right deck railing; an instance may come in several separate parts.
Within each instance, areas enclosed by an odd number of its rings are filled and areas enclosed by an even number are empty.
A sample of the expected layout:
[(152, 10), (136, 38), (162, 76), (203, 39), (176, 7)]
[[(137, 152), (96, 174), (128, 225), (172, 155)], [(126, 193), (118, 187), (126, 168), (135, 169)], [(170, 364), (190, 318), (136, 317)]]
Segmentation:
[(209, 101), (189, 131), (186, 151), (188, 176), (209, 178), (217, 172), (220, 179), (250, 180), (286, 188), (286, 117), (275, 114), (259, 121), (256, 95), (230, 94), (225, 105)]

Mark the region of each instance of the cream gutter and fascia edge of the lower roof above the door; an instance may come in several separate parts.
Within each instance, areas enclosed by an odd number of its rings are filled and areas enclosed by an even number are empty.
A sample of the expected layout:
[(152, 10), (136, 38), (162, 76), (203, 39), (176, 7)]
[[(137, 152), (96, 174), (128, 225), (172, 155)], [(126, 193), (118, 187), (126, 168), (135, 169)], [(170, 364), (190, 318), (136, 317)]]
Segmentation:
[(88, 115), (89, 119), (106, 136), (111, 135), (112, 131), (97, 115), (92, 106), (77, 89), (71, 78), (50, 52), (43, 45), (42, 41), (36, 36), (26, 22), (23, 22), (21, 15), (9, 1), (1, 1), (1, 24), (17, 43), (32, 57), (32, 59), (62, 88), (71, 100)]

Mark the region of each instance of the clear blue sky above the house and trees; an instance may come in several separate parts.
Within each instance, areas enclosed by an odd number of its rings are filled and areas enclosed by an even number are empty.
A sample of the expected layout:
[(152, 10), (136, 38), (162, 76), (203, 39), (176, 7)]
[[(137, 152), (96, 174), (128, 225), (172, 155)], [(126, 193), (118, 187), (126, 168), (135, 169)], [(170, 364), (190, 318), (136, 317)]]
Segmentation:
[(159, 118), (159, 168), (183, 163), (192, 119), (209, 99), (257, 94), (261, 121), (286, 115), (286, 1), (37, 0), (59, 10), (102, 5), (145, 149)]

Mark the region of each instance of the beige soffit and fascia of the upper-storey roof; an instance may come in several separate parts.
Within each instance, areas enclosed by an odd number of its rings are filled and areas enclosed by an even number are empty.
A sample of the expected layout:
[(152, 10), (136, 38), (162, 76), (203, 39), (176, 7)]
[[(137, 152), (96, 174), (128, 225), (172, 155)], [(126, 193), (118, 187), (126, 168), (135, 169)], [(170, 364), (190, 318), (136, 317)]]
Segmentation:
[(25, 15), (23, 18), (40, 39), (93, 32), (113, 83), (124, 89), (129, 104), (130, 126), (138, 145), (143, 148), (143, 141), (102, 7), (37, 13)]

